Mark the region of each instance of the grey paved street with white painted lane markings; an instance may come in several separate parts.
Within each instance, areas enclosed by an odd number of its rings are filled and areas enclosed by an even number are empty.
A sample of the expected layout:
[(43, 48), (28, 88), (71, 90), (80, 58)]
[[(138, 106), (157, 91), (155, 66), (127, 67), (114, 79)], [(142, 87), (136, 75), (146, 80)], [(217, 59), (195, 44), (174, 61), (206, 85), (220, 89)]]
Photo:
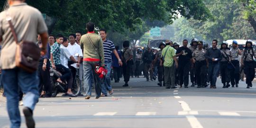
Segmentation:
[[(245, 82), (222, 89), (218, 79), (217, 89), (174, 90), (146, 78), (130, 80), (130, 87), (113, 83), (113, 96), (100, 99), (41, 98), (34, 111), (37, 128), (256, 128), (255, 82), (251, 89)], [(1, 128), (9, 128), (5, 101), (0, 97)]]

